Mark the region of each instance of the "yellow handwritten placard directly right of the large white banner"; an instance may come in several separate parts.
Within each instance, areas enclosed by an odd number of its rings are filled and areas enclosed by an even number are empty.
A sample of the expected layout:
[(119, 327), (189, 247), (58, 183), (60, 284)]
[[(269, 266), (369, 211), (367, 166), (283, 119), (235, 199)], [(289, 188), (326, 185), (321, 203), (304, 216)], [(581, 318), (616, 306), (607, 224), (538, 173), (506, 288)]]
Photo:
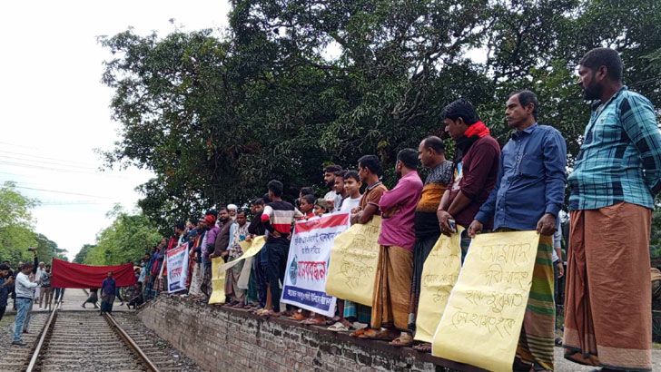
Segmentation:
[(371, 306), (379, 263), (381, 218), (355, 224), (335, 238), (331, 250), (326, 293)]

